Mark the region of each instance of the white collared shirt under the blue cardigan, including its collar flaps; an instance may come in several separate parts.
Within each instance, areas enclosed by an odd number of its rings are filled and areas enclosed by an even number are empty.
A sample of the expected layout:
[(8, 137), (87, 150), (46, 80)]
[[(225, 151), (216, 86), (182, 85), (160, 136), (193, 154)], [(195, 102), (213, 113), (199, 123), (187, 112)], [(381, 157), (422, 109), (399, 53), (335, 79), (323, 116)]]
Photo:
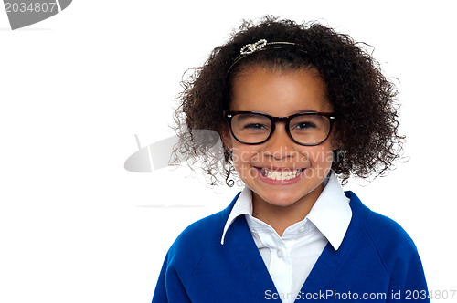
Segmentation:
[(337, 250), (343, 242), (352, 211), (349, 199), (332, 172), (325, 179), (324, 191), (310, 213), (302, 221), (287, 227), (282, 236), (252, 216), (252, 192), (246, 186), (228, 215), (222, 245), (228, 228), (239, 215), (246, 217), (282, 302), (292, 303), (327, 243)]

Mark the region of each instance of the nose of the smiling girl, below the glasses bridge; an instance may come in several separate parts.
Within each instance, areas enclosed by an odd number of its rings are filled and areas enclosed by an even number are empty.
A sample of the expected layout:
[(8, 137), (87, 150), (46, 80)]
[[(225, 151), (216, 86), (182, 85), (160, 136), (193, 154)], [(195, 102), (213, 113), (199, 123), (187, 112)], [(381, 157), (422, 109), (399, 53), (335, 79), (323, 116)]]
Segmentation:
[(287, 134), (285, 123), (276, 122), (275, 129), (268, 141), (265, 142), (265, 155), (275, 160), (292, 158), (295, 150), (295, 143)]

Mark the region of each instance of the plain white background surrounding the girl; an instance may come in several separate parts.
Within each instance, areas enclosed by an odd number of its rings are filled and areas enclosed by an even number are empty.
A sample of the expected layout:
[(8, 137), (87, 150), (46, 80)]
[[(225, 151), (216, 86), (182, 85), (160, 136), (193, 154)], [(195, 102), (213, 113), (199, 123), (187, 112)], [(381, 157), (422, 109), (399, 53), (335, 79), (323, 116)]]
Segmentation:
[(238, 189), (211, 190), (186, 169), (125, 171), (137, 151), (134, 134), (143, 146), (171, 136), (186, 68), (199, 66), (241, 19), (265, 14), (319, 20), (367, 42), (386, 75), (399, 78), (410, 160), (386, 178), (345, 189), (408, 231), (430, 290), (457, 289), (452, 7), (75, 0), (16, 31), (2, 7), (0, 302), (151, 300), (175, 237), (224, 208)]

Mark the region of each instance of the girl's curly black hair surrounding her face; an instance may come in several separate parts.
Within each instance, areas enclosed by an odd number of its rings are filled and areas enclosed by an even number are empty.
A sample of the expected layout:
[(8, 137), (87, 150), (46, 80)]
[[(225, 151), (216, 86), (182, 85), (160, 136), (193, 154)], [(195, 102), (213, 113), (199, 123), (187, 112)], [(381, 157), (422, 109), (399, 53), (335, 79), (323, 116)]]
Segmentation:
[[(241, 47), (260, 39), (301, 47), (255, 52), (233, 66)], [(212, 184), (219, 183), (218, 175), (222, 175), (225, 183), (233, 185), (235, 171), (228, 148), (224, 146), (222, 156), (215, 154), (211, 151), (214, 137), (197, 140), (193, 131), (223, 133), (227, 122), (222, 111), (230, 104), (232, 79), (243, 68), (314, 68), (326, 84), (327, 97), (338, 118), (335, 140), (340, 147), (334, 151), (332, 170), (343, 182), (351, 175), (367, 179), (386, 174), (399, 159), (404, 142), (398, 133), (397, 89), (363, 46), (319, 23), (297, 24), (273, 16), (265, 16), (259, 23), (243, 21), (227, 43), (216, 47), (202, 67), (193, 68), (193, 73), (183, 79), (184, 91), (175, 110), (180, 138), (175, 161), (184, 155), (191, 165), (203, 167)]]

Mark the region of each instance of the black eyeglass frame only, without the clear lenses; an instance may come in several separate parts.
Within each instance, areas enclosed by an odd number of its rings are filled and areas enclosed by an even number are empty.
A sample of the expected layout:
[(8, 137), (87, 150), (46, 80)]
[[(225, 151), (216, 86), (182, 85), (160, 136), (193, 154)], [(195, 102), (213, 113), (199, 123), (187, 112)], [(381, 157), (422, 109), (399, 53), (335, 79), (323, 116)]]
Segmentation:
[[(231, 127), (231, 120), (233, 119), (233, 117), (235, 117), (239, 114), (256, 114), (256, 115), (261, 115), (261, 116), (264, 116), (264, 117), (270, 119), (271, 120), (271, 131), (270, 131), (270, 135), (267, 137), (267, 139), (265, 139), (264, 141), (258, 142), (258, 143), (249, 143), (249, 142), (240, 141), (237, 138), (237, 136), (235, 136), (235, 133), (233, 132), (232, 127)], [(265, 143), (266, 141), (268, 141), (271, 138), (271, 135), (273, 134), (273, 132), (276, 128), (276, 122), (284, 122), (287, 135), (289, 136), (289, 138), (291, 138), (291, 140), (294, 143), (297, 143), (302, 146), (316, 146), (316, 145), (324, 143), (324, 141), (326, 141), (328, 139), (328, 137), (330, 137), (330, 134), (332, 133), (332, 128), (334, 126), (335, 119), (336, 119), (335, 112), (318, 112), (318, 111), (300, 112), (300, 113), (293, 114), (292, 116), (289, 116), (289, 117), (273, 117), (269, 114), (259, 112), (259, 111), (224, 110), (223, 115), (224, 115), (224, 119), (228, 121), (228, 128), (230, 129), (230, 133), (232, 134), (233, 138), (235, 138), (236, 141), (239, 141), (239, 143), (247, 144), (247, 145), (259, 145), (259, 144)], [(291, 120), (293, 118), (299, 117), (299, 116), (316, 116), (316, 115), (324, 116), (324, 117), (328, 118), (328, 120), (330, 122), (330, 127), (328, 129), (328, 133), (327, 133), (327, 136), (325, 137), (325, 139), (323, 141), (320, 141), (320, 142), (314, 143), (314, 144), (304, 144), (304, 143), (301, 143), (301, 142), (293, 139), (292, 134), (291, 134), (291, 129), (289, 127)]]

